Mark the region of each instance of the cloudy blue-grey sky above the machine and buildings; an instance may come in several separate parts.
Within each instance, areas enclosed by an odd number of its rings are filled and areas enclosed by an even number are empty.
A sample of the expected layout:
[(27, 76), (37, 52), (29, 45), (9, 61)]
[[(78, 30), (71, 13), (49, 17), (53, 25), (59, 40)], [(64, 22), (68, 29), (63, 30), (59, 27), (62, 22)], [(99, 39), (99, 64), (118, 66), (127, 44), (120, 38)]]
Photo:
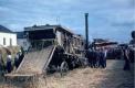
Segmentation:
[(33, 24), (61, 24), (84, 35), (89, 13), (90, 37), (128, 42), (135, 30), (134, 0), (0, 0), (0, 24), (22, 31)]

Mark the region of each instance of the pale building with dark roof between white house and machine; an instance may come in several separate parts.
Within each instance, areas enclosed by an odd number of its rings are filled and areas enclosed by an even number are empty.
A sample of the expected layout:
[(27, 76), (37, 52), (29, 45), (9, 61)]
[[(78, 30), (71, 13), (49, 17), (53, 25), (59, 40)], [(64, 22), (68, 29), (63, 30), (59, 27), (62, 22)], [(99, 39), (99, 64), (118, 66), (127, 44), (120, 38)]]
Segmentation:
[(15, 32), (17, 33), (17, 43), (19, 46), (23, 47), (27, 51), (30, 46), (28, 40), (24, 37), (24, 32)]

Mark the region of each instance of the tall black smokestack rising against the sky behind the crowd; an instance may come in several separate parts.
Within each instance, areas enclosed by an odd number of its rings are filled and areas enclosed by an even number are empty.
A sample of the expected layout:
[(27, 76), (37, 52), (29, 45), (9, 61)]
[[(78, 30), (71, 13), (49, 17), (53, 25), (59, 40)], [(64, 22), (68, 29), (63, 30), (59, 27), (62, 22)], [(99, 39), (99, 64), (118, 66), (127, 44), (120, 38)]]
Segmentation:
[(85, 38), (86, 38), (85, 50), (89, 50), (89, 13), (85, 13)]

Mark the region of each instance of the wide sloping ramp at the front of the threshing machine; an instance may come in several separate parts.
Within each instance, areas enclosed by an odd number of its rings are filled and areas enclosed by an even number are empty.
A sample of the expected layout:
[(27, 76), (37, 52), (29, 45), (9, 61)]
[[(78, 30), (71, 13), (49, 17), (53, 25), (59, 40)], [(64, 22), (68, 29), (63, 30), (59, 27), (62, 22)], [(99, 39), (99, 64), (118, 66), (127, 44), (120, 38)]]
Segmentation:
[(41, 51), (28, 53), (19, 68), (14, 73), (8, 74), (6, 76), (42, 74), (43, 69), (45, 69), (44, 67), (48, 67), (45, 65), (49, 65), (50, 61), (52, 59), (54, 50), (55, 46), (48, 46)]

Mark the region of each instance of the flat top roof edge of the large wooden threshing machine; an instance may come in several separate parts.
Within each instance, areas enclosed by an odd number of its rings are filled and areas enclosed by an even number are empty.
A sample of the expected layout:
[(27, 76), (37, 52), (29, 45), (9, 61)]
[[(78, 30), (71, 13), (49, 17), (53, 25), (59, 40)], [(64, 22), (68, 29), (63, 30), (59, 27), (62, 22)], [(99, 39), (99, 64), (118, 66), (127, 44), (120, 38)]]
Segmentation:
[(58, 28), (61, 28), (61, 30), (73, 34), (73, 32), (71, 30), (69, 30), (68, 28), (65, 28), (65, 26), (62, 26), (62, 25), (50, 25), (50, 24), (28, 26), (28, 28), (24, 28), (24, 31), (49, 30), (49, 29), (58, 29)]

